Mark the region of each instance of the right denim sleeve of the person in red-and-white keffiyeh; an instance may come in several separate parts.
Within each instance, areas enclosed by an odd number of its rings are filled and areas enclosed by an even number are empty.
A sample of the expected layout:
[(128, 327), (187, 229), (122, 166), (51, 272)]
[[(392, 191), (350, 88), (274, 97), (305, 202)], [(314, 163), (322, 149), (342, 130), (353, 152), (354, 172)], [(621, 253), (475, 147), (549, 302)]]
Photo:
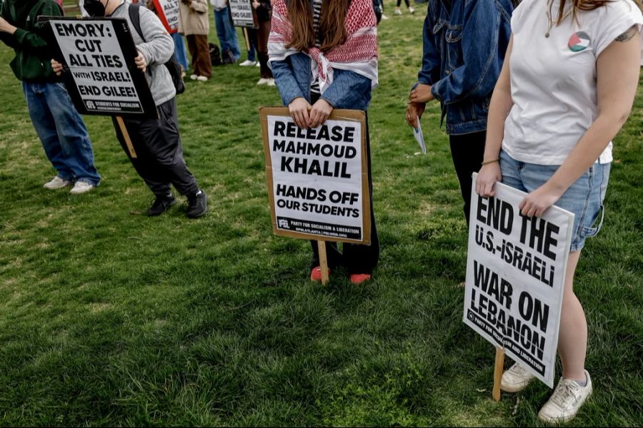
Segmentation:
[(371, 101), (371, 79), (349, 70), (334, 70), (333, 83), (321, 99), (333, 108), (366, 110)]

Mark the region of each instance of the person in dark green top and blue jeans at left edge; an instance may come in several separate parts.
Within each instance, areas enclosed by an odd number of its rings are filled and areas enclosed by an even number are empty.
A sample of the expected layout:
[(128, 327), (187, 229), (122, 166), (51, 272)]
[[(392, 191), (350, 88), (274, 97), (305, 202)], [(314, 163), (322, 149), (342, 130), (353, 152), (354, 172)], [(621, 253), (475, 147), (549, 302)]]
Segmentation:
[(44, 187), (74, 185), (71, 193), (88, 192), (101, 180), (89, 133), (64, 84), (51, 70), (44, 28), (36, 24), (40, 15), (61, 16), (61, 8), (49, 0), (6, 0), (0, 7), (0, 40), (16, 53), (11, 69), (22, 81), (31, 123), (56, 169), (56, 176)]

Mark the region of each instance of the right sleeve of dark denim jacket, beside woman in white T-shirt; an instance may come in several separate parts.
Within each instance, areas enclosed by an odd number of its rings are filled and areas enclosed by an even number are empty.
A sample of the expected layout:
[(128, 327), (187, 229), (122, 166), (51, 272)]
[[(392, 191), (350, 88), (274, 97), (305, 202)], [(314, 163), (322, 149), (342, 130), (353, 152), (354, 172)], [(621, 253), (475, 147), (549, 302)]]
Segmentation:
[(511, 33), (510, 16), (497, 0), (466, 0), (464, 8), (468, 18), (462, 28), (463, 64), (431, 88), (435, 98), (444, 104), (487, 96), (493, 91), (507, 49), (499, 46), (500, 34), (508, 40)]

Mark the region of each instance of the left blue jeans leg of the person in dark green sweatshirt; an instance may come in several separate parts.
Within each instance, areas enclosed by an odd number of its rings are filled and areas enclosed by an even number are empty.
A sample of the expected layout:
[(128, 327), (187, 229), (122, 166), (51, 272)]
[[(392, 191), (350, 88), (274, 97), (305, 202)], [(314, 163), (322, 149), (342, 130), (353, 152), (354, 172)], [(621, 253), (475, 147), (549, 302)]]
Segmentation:
[(27, 103), (27, 110), (38, 138), (42, 143), (45, 155), (56, 169), (56, 175), (64, 181), (73, 181), (74, 173), (67, 165), (66, 155), (62, 150), (56, 130), (54, 116), (51, 116), (44, 96), (44, 84), (22, 83), (22, 91)]

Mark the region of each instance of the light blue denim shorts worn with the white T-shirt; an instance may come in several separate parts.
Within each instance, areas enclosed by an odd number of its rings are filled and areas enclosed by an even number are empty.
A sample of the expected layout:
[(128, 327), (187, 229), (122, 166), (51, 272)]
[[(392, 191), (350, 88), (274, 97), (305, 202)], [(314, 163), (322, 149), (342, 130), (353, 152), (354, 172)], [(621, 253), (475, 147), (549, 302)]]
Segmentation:
[[(570, 251), (580, 251), (585, 238), (599, 233), (603, 225), (603, 200), (611, 163), (594, 163), (560, 197), (557, 207), (574, 213), (574, 230)], [(507, 152), (500, 151), (502, 183), (523, 192), (532, 192), (547, 182), (560, 165), (537, 165), (516, 161)], [(600, 219), (599, 219), (600, 214)]]

